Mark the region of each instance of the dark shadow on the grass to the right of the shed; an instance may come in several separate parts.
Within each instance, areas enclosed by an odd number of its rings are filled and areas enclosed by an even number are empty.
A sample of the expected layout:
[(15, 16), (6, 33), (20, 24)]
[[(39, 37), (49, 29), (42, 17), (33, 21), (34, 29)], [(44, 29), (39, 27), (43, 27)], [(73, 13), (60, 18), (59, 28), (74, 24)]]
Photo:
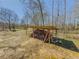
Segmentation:
[(75, 51), (75, 52), (79, 52), (79, 49), (76, 47), (76, 45), (73, 43), (73, 41), (53, 37), (50, 40), (50, 43), (55, 44), (57, 46), (61, 46), (63, 48), (66, 48), (66, 49), (69, 49), (69, 50), (72, 50), (72, 51)]

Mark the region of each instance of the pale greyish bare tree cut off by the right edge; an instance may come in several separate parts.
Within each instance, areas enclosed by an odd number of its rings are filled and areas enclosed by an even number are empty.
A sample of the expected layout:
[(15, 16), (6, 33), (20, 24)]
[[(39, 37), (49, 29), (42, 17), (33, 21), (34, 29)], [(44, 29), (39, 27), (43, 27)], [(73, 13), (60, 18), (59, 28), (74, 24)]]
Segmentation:
[(78, 28), (77, 26), (77, 23), (78, 23), (78, 20), (79, 20), (79, 0), (75, 0), (74, 1), (74, 8), (73, 8), (73, 12), (72, 12), (72, 16), (73, 16), (73, 19), (74, 19), (74, 29), (75, 28)]

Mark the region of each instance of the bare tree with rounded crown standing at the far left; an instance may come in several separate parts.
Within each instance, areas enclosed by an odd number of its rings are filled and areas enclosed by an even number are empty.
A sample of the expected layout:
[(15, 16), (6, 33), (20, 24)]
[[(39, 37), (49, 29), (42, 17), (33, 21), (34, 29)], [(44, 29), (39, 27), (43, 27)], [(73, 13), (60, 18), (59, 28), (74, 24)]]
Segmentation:
[[(18, 20), (18, 16), (15, 12), (6, 9), (6, 8), (0, 8), (0, 18), (1, 20), (8, 25), (9, 30), (11, 31), (11, 28), (15, 29), (15, 23), (16, 20)], [(6, 25), (5, 25), (6, 26)], [(3, 26), (4, 27), (4, 26)]]

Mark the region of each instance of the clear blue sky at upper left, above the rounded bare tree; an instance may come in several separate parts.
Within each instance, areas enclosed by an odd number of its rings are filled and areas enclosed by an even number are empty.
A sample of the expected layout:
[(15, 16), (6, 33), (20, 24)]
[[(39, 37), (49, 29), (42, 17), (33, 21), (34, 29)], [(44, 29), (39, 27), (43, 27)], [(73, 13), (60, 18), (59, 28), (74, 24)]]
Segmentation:
[(19, 0), (0, 0), (0, 7), (8, 8), (13, 10), (18, 14), (18, 16), (23, 16), (23, 7)]

